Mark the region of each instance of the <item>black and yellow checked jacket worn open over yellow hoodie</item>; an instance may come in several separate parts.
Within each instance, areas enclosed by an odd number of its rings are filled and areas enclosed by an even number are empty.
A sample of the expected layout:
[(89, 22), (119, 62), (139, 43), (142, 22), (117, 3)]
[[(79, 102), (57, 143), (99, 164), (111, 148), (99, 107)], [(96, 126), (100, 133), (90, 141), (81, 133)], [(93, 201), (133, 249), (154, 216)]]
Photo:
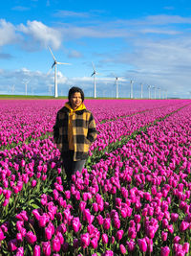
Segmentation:
[[(61, 153), (69, 151), (68, 121), (69, 109), (63, 106), (56, 116), (53, 139)], [(93, 114), (87, 110), (75, 111), (73, 115), (74, 161), (88, 157), (91, 144), (96, 140), (96, 123)]]

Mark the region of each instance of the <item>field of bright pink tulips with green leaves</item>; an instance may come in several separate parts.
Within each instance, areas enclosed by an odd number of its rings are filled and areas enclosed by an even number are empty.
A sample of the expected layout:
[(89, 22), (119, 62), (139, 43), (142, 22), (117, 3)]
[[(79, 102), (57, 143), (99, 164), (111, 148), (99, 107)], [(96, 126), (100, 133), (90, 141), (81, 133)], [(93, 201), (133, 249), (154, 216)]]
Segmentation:
[(66, 181), (66, 100), (0, 100), (1, 255), (191, 255), (191, 100), (85, 100), (96, 141)]

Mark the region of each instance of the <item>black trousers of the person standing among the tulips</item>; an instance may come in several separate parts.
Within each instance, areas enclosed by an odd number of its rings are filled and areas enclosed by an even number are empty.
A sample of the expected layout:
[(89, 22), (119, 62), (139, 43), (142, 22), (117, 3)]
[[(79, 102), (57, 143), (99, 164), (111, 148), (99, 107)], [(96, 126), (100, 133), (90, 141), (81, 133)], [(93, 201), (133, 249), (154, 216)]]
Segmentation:
[(77, 171), (81, 173), (86, 162), (86, 160), (74, 161), (74, 151), (63, 152), (62, 161), (68, 182), (71, 182), (72, 175), (74, 175)]

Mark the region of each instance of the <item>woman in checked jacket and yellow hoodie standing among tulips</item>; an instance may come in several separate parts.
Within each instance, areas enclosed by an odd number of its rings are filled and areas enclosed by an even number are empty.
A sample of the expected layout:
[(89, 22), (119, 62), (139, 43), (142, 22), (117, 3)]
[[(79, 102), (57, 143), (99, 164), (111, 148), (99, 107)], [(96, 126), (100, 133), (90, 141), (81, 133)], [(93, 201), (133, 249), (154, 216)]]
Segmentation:
[(69, 90), (67, 102), (58, 112), (53, 127), (53, 140), (61, 151), (68, 182), (81, 172), (91, 144), (96, 140), (93, 114), (84, 105), (84, 93), (78, 87)]

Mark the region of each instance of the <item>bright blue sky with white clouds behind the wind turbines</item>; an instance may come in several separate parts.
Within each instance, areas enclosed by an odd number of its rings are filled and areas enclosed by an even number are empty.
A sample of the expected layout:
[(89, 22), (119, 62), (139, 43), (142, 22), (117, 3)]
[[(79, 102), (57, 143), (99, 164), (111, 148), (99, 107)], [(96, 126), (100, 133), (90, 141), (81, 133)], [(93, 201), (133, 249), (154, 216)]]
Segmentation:
[[(7, 0), (0, 2), (0, 94), (58, 95), (71, 86), (96, 96), (191, 97), (191, 2)], [(49, 73), (48, 73), (49, 72)]]

